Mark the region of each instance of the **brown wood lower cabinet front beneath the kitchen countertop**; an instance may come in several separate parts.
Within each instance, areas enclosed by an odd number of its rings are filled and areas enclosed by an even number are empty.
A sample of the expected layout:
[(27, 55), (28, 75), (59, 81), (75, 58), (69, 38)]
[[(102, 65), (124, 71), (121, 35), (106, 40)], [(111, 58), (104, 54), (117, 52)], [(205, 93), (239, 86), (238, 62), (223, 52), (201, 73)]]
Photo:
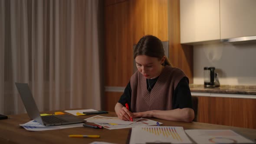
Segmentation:
[(256, 99), (198, 97), (198, 122), (256, 129)]

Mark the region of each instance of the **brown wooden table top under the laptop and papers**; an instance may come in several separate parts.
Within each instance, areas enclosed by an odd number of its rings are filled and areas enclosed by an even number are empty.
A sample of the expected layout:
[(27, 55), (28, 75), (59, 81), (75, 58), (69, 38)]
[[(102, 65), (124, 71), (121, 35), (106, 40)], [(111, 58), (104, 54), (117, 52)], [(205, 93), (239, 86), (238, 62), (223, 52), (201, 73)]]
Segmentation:
[[(47, 113), (53, 113), (47, 112)], [(91, 115), (92, 116), (92, 115)], [(79, 116), (80, 118), (89, 118), (91, 116)], [(114, 112), (102, 116), (116, 117)], [(176, 122), (165, 121), (157, 118), (151, 118), (154, 121), (160, 121), (163, 126), (182, 126), (184, 129), (230, 129), (252, 141), (256, 139), (256, 129), (237, 128), (216, 124), (206, 124), (199, 122)], [(0, 144), (88, 144), (93, 141), (105, 141), (116, 144), (125, 144), (128, 133), (131, 128), (108, 130), (94, 128), (66, 128), (49, 131), (26, 131), (19, 124), (30, 121), (27, 114), (9, 115), (8, 119), (0, 120)], [(69, 134), (97, 134), (100, 138), (72, 138)]]

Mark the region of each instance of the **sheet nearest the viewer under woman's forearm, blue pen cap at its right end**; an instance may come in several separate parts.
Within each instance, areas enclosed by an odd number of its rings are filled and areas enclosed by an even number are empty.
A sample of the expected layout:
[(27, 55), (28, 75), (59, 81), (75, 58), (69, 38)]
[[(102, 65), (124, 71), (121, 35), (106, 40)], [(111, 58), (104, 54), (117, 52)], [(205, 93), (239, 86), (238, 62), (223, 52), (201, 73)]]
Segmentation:
[[(136, 126), (150, 126), (150, 125), (157, 125), (158, 121), (152, 121), (146, 118), (140, 118), (139, 121), (136, 121), (135, 123), (124, 125), (124, 124), (107, 124), (107, 123), (95, 123), (100, 126), (103, 126), (104, 128), (107, 128), (109, 130), (115, 130), (115, 129), (121, 129), (121, 128), (134, 128)], [(163, 124), (159, 122), (159, 124)]]

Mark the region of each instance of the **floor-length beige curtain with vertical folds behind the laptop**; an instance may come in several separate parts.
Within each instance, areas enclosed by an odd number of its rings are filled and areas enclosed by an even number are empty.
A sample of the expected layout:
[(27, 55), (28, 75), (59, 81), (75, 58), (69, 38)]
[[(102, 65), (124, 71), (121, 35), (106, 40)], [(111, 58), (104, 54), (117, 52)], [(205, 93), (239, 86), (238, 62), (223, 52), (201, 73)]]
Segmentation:
[(102, 1), (0, 0), (0, 114), (26, 113), (14, 82), (39, 111), (102, 109)]

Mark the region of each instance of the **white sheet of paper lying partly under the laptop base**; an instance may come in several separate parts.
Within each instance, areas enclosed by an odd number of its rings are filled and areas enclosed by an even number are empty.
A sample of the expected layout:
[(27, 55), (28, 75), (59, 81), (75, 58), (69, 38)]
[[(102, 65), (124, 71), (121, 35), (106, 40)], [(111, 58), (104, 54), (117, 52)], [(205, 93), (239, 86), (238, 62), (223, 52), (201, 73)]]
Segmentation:
[(65, 124), (65, 125), (57, 125), (57, 126), (51, 126), (46, 127), (45, 125), (39, 124), (38, 122), (32, 120), (25, 124), (20, 124), (23, 128), (25, 128), (27, 131), (46, 131), (46, 130), (56, 130), (56, 129), (62, 129), (62, 128), (75, 128), (75, 127), (83, 127), (84, 123), (79, 124)]

